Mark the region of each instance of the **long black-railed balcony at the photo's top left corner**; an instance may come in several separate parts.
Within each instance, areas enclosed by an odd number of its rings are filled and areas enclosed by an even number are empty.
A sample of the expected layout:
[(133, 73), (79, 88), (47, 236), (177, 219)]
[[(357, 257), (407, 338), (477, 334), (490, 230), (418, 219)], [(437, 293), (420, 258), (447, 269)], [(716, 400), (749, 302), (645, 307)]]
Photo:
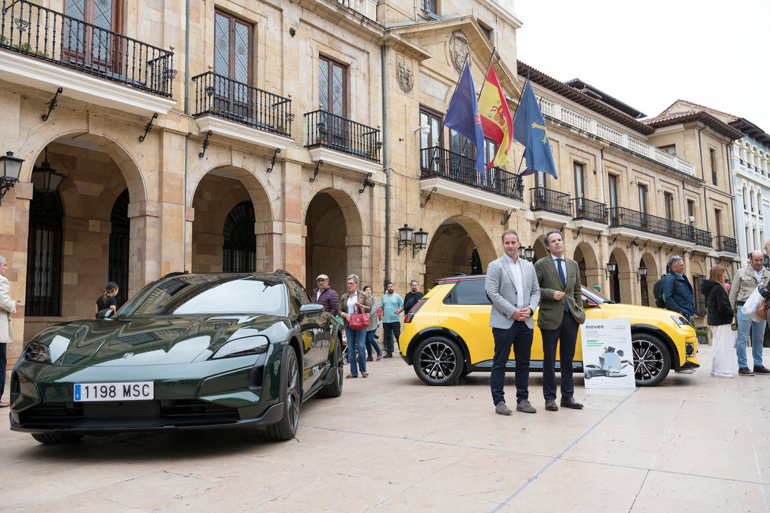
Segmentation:
[(6, 80), (137, 114), (175, 104), (173, 52), (24, 0), (3, 0)]

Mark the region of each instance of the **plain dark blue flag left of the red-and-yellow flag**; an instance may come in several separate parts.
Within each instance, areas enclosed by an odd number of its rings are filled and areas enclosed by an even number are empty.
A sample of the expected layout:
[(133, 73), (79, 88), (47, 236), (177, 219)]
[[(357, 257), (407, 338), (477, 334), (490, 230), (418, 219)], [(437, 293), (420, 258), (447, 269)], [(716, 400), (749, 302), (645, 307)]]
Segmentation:
[(476, 171), (484, 177), (484, 131), (481, 130), (481, 116), (476, 100), (474, 79), (470, 76), (470, 66), (465, 63), (463, 76), (457, 84), (452, 101), (444, 116), (444, 126), (454, 129), (476, 145)]

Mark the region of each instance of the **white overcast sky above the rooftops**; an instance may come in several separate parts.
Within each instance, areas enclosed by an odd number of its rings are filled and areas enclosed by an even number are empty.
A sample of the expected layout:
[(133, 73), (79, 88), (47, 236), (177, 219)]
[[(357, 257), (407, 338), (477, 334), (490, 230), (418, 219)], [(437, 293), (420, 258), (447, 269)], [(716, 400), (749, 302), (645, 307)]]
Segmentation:
[(517, 58), (644, 112), (677, 99), (770, 133), (770, 0), (514, 0)]

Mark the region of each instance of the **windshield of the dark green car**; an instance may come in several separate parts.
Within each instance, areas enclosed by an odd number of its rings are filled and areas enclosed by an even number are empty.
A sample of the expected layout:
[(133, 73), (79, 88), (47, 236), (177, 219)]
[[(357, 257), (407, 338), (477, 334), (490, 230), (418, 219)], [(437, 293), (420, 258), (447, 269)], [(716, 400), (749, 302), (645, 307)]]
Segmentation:
[(243, 275), (189, 275), (143, 288), (116, 315), (287, 315), (287, 310), (283, 281)]

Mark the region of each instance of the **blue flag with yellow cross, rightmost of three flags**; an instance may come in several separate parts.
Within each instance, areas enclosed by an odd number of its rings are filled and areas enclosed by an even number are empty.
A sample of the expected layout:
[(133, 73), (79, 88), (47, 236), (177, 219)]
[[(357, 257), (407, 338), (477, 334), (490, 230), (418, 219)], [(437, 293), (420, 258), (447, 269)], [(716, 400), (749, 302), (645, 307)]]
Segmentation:
[(540, 171), (558, 178), (543, 113), (537, 105), (537, 98), (534, 97), (529, 80), (524, 85), (521, 103), (514, 118), (514, 139), (524, 145), (524, 158), (527, 159), (527, 168), (521, 176)]

